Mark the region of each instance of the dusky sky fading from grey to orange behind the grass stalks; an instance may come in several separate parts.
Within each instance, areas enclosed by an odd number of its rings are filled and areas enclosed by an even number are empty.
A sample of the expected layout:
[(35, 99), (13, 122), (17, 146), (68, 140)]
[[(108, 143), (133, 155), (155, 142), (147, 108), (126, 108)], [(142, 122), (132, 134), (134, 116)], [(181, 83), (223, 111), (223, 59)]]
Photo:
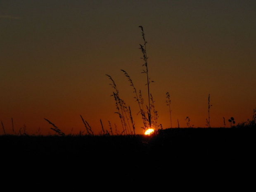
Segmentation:
[(143, 134), (135, 93), (121, 71), (148, 104), (139, 26), (157, 128), (185, 128), (186, 117), (190, 126), (207, 127), (209, 94), (211, 127), (251, 119), (255, 0), (0, 0), (0, 135), (4, 129), (55, 135), (45, 119), (65, 134), (83, 133), (81, 116), (95, 134), (102, 133), (100, 120), (104, 130), (110, 122), (121, 133), (106, 74), (130, 106), (135, 133)]

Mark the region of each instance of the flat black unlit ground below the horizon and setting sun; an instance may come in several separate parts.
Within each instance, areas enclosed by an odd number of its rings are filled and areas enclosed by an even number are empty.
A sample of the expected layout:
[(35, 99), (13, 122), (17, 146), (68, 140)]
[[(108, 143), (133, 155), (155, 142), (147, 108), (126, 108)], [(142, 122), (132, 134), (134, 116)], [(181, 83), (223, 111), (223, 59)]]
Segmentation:
[(254, 128), (176, 128), (155, 136), (1, 136), (1, 186), (246, 189), (255, 183), (255, 141)]

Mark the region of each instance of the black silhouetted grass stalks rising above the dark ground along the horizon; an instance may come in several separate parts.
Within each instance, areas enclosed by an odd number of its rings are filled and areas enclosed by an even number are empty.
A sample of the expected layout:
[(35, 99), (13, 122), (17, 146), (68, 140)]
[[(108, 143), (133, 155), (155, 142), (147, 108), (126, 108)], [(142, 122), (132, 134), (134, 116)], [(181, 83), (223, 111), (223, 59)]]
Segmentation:
[[(128, 73), (121, 69), (121, 71), (124, 73), (124, 75), (126, 76), (126, 78), (128, 78), (128, 81), (130, 82), (130, 86), (132, 86), (133, 88), (133, 93), (135, 94), (135, 102), (137, 102), (138, 107), (139, 107), (139, 112), (137, 114), (141, 115), (141, 119), (143, 122), (143, 129), (144, 131), (149, 128), (154, 126), (154, 128), (156, 130), (158, 129), (163, 129), (162, 124), (158, 122), (158, 111), (156, 110), (156, 106), (155, 106), (155, 101), (153, 100), (153, 96), (150, 93), (150, 89), (149, 89), (149, 84), (154, 82), (151, 81), (151, 79), (149, 78), (149, 70), (148, 70), (148, 57), (147, 57), (147, 51), (146, 51), (146, 45), (147, 45), (147, 40), (145, 38), (145, 33), (144, 33), (144, 28), (142, 26), (139, 26), (139, 28), (141, 29), (141, 33), (142, 33), (142, 39), (143, 39), (143, 43), (139, 44), (140, 45), (140, 50), (142, 52), (143, 57), (141, 59), (143, 59), (143, 64), (142, 66), (145, 67), (145, 69), (142, 71), (142, 73), (145, 73), (147, 75), (147, 96), (148, 96), (148, 105), (144, 106), (144, 99), (142, 97), (142, 92), (141, 90), (139, 90), (139, 92), (137, 92), (137, 89), (135, 88), (135, 85), (130, 77), (130, 75), (128, 75)], [(114, 131), (112, 130), (112, 126), (111, 123), (109, 121), (109, 130), (104, 129), (103, 124), (102, 124), (102, 120), (100, 119), (100, 123), (101, 123), (101, 127), (102, 127), (102, 132), (99, 133), (98, 135), (136, 135), (135, 133), (135, 122), (133, 121), (133, 116), (132, 116), (132, 111), (130, 109), (129, 105), (126, 105), (126, 102), (124, 102), (123, 99), (120, 98), (119, 96), (119, 90), (117, 89), (116, 83), (114, 82), (113, 78), (111, 76), (109, 76), (108, 74), (106, 74), (106, 76), (108, 76), (108, 78), (111, 80), (111, 87), (114, 88), (113, 94), (111, 95), (112, 97), (114, 97), (114, 101), (116, 104), (116, 112), (115, 114), (119, 115), (119, 119), (121, 121), (121, 126), (122, 126), (122, 131), (120, 133), (120, 131), (117, 129), (116, 124), (114, 124)], [(172, 126), (172, 117), (171, 117), (171, 99), (170, 99), (170, 94), (169, 92), (166, 92), (166, 104), (169, 107), (169, 114), (170, 114), (170, 122), (171, 122), (171, 128), (173, 128)], [(212, 104), (210, 104), (210, 94), (208, 96), (208, 118), (206, 118), (206, 126), (207, 128), (211, 128), (211, 123), (210, 123), (210, 108), (211, 108)], [(147, 114), (147, 115), (146, 115)], [(89, 123), (87, 121), (85, 121), (83, 119), (83, 117), (80, 115), (83, 125), (85, 126), (85, 130), (79, 132), (79, 136), (83, 136), (83, 135), (89, 135), (89, 136), (96, 136), (97, 134), (95, 134), (91, 128), (91, 126), (89, 125)], [(21, 127), (19, 129), (18, 133), (15, 133), (14, 131), (14, 123), (13, 123), (13, 118), (11, 118), (12, 120), (12, 134), (13, 135), (26, 135), (28, 136), (28, 133), (26, 132), (26, 124), (24, 124), (23, 127)], [(48, 119), (45, 119), (49, 124), (51, 124), (53, 127), (51, 127), (50, 129), (55, 131), (55, 133), (59, 136), (67, 136), (62, 130), (60, 130), (57, 126), (55, 126), (54, 123), (52, 123), (51, 121), (49, 121)], [(185, 118), (186, 124), (188, 128), (192, 128), (194, 127), (194, 125), (190, 125), (190, 118), (189, 116), (187, 116)], [(255, 127), (255, 122), (256, 122), (256, 108), (253, 109), (253, 116), (251, 119), (247, 119), (247, 121), (242, 122), (242, 123), (238, 123), (235, 126), (235, 119), (234, 117), (231, 117), (230, 119), (228, 119), (229, 123), (230, 123), (230, 128), (232, 127), (236, 127), (236, 128), (252, 128)], [(179, 124), (179, 120), (177, 119), (178, 122), (178, 128), (180, 128), (180, 124)], [(224, 128), (226, 127), (225, 124), (225, 118), (223, 117), (223, 124), (224, 124)], [(3, 130), (3, 134), (4, 135), (10, 135), (6, 133), (6, 129), (4, 126), (4, 123), (1, 121), (1, 125), (2, 125), (2, 130)], [(73, 129), (72, 129), (73, 130)], [(71, 130), (71, 132), (72, 132)], [(36, 135), (40, 135), (40, 128), (38, 129), (38, 131), (36, 131)], [(72, 133), (70, 133), (69, 135), (73, 135)]]

